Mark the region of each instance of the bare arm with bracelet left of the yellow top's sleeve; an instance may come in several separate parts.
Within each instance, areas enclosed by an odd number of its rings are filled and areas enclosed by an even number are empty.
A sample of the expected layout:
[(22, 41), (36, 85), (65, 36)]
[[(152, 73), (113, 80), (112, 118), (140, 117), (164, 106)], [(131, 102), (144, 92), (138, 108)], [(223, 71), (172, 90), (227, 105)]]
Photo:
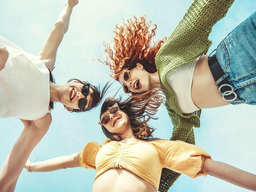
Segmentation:
[(80, 167), (79, 154), (80, 153), (74, 153), (72, 155), (55, 157), (36, 163), (31, 163), (30, 160), (27, 160), (25, 168), (28, 172), (49, 172), (58, 169)]

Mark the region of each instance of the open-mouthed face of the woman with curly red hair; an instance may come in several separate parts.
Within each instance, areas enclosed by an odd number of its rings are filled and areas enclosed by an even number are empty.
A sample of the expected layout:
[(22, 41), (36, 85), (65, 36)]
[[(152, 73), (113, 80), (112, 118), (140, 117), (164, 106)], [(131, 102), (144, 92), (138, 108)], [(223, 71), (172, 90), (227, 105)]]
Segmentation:
[(136, 67), (129, 71), (129, 80), (125, 81), (124, 74), (128, 68), (121, 70), (119, 82), (121, 85), (127, 85), (130, 92), (141, 93), (150, 88), (150, 73), (147, 72), (142, 64), (137, 63)]

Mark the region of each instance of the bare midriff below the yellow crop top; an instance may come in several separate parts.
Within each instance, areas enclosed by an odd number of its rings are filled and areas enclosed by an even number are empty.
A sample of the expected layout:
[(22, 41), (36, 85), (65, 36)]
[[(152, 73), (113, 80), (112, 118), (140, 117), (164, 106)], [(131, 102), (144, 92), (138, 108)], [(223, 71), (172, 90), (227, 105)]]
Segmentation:
[(92, 192), (156, 192), (155, 187), (122, 168), (109, 169), (94, 182)]

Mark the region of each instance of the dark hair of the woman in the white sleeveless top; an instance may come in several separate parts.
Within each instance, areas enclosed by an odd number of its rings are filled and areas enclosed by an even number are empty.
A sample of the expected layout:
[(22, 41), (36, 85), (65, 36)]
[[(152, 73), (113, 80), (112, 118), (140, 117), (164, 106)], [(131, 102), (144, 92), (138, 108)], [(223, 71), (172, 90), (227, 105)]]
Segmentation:
[[(69, 79), (68, 83), (72, 82), (72, 81), (78, 81), (79, 83), (81, 83), (83, 85), (88, 84), (87, 81), (81, 81), (79, 79)], [(92, 99), (90, 99), (88, 108), (85, 111), (90, 111), (93, 108), (99, 106), (102, 102), (103, 97), (106, 95), (108, 88), (111, 85), (112, 85), (112, 83), (110, 83), (110, 81), (108, 81), (103, 88), (100, 88), (100, 85), (99, 86), (91, 85), (90, 88), (92, 89), (92, 94), (91, 94)], [(69, 112), (83, 112), (83, 111), (81, 111), (80, 109), (73, 109), (72, 111), (69, 111)]]

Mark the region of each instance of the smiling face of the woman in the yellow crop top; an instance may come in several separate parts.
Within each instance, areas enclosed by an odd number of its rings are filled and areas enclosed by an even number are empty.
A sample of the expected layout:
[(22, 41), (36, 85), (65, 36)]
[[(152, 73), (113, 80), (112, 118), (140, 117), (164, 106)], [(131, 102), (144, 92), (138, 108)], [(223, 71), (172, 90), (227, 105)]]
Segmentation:
[(111, 107), (108, 108), (104, 113), (101, 115), (104, 117), (105, 115), (109, 115), (110, 121), (103, 125), (106, 130), (108, 130), (110, 133), (122, 135), (124, 134), (128, 129), (131, 129), (129, 117), (126, 113), (124, 113), (122, 110), (119, 110), (116, 114), (111, 114), (109, 112)]

